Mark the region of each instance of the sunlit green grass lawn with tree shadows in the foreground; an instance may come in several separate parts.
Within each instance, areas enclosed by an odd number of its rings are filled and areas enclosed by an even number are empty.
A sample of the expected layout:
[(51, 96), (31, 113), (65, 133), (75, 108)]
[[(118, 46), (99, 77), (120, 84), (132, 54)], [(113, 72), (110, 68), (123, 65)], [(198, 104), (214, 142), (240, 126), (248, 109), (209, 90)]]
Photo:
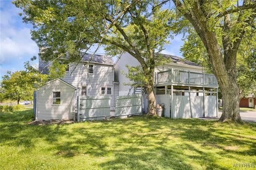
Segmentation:
[(256, 164), (256, 124), (132, 117), (30, 125), (1, 113), (0, 169), (233, 169)]

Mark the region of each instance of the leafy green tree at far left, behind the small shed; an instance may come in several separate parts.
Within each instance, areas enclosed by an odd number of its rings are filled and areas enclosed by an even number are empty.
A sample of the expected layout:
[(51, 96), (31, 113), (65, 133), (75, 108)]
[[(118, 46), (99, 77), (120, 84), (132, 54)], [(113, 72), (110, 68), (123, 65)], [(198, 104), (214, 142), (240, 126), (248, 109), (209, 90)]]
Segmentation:
[(46, 80), (46, 75), (40, 75), (29, 62), (26, 62), (24, 67), (25, 71), (8, 71), (7, 75), (2, 77), (1, 90), (4, 99), (16, 100), (18, 104), (20, 100), (32, 100), (34, 83), (38, 84), (39, 79)]

